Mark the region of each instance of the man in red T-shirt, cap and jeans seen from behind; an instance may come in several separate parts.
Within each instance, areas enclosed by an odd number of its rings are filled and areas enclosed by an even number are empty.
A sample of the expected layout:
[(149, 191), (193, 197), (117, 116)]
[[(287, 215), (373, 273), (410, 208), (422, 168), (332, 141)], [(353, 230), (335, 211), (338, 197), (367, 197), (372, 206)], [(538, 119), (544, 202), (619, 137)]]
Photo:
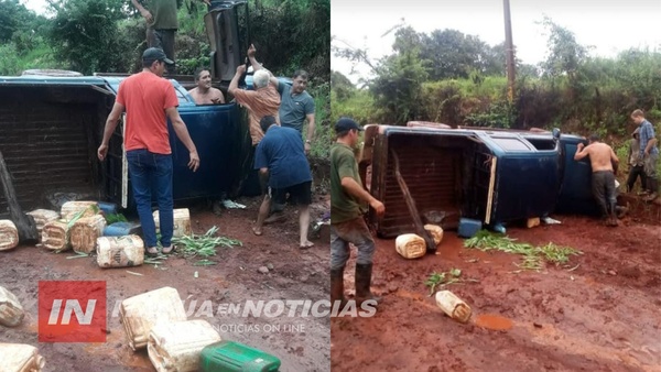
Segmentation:
[(156, 227), (151, 209), (152, 189), (156, 193), (159, 205), (163, 253), (170, 253), (173, 249), (172, 151), (167, 118), (176, 136), (188, 149), (188, 167), (195, 172), (199, 166), (195, 144), (176, 110), (178, 100), (174, 87), (162, 78), (165, 65), (173, 63), (162, 50), (151, 47), (144, 51), (142, 73), (126, 78), (119, 85), (115, 106), (106, 120), (104, 139), (98, 149), (98, 157), (104, 161), (108, 153), (108, 141), (126, 110), (124, 150), (149, 254), (159, 252)]

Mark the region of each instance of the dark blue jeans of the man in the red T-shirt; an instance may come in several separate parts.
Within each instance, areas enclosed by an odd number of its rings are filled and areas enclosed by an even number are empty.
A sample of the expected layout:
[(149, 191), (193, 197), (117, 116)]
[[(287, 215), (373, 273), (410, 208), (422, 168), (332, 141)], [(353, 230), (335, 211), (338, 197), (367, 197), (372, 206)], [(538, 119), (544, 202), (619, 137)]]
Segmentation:
[(154, 154), (148, 150), (127, 151), (133, 198), (138, 207), (145, 248), (156, 247), (156, 225), (152, 216), (152, 190), (159, 205), (161, 244), (172, 244), (174, 225), (172, 201), (172, 155)]

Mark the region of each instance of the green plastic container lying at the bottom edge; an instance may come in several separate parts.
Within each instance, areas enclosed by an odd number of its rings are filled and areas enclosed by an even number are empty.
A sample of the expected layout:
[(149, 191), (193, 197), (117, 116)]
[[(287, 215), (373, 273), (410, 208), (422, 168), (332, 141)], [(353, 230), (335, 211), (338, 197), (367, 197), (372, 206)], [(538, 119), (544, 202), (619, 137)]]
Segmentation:
[(280, 359), (234, 341), (212, 343), (199, 354), (202, 372), (277, 372)]

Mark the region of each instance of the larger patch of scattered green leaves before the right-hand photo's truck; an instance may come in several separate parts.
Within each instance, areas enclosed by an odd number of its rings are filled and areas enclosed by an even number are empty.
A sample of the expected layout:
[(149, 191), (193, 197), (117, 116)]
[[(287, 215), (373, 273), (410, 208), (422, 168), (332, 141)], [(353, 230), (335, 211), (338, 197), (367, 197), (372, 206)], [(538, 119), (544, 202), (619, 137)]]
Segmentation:
[(506, 236), (494, 234), (487, 230), (478, 231), (477, 234), (464, 241), (464, 247), (478, 249), (484, 252), (500, 251), (523, 255), (521, 263), (516, 264), (522, 270), (541, 271), (544, 261), (556, 265), (567, 263), (571, 255), (583, 254), (583, 252), (571, 247), (549, 243), (534, 247), (529, 243), (518, 243), (516, 239)]

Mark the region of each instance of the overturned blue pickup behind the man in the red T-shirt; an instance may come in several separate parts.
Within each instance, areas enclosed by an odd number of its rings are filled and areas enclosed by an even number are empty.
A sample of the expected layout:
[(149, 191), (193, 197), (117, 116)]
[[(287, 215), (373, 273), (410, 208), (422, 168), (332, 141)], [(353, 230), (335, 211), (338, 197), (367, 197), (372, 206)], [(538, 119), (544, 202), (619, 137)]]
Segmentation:
[[(205, 15), (214, 85), (226, 97), (249, 45), (247, 11), (245, 0), (213, 1)], [(63, 193), (131, 207), (123, 125), (118, 125), (110, 140), (107, 161), (101, 163), (96, 156), (117, 89), (128, 75), (79, 75), (41, 70), (0, 77), (0, 151), (24, 209), (53, 205), (53, 198)], [(194, 84), (192, 76), (166, 78), (176, 90), (180, 114), (202, 160), (199, 169), (191, 172), (188, 152), (171, 130), (175, 201), (259, 193), (249, 177), (252, 160), (246, 111), (234, 101), (195, 105), (187, 92)], [(250, 76), (246, 85), (251, 87)], [(2, 196), (0, 210), (7, 210)]]

